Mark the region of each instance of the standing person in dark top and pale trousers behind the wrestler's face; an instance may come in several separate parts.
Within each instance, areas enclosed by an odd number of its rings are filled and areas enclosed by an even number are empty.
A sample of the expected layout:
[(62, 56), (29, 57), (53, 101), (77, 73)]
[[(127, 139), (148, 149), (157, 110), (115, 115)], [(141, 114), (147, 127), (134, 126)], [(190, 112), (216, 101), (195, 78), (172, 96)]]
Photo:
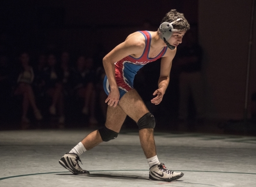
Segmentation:
[[(191, 26), (191, 29), (185, 34), (176, 56), (180, 71), (179, 120), (185, 122), (189, 130), (194, 130), (194, 119), (200, 124), (203, 123), (204, 119), (204, 89), (201, 74), (202, 49), (197, 43), (197, 28), (195, 26)], [(189, 107), (191, 106), (189, 101), (193, 101), (195, 111), (189, 110), (192, 108)]]

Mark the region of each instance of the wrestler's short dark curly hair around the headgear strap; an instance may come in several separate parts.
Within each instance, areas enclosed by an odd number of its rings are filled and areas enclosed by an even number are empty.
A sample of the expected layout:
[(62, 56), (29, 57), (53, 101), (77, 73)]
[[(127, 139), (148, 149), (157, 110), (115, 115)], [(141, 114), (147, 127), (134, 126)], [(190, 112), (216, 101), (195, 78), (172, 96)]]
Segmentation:
[(165, 17), (162, 19), (162, 23), (169, 22), (171, 23), (174, 20), (177, 20), (178, 18), (182, 18), (182, 20), (179, 20), (172, 25), (174, 26), (174, 29), (179, 29), (181, 31), (187, 31), (190, 29), (189, 23), (184, 17), (184, 14), (177, 12), (176, 9), (170, 10), (167, 14), (165, 14)]

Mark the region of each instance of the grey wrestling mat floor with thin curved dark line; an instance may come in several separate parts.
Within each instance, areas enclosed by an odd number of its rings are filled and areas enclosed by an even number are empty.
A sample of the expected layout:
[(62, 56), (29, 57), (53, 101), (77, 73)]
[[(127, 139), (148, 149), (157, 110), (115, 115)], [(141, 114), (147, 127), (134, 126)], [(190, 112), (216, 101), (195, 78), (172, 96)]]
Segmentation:
[(157, 155), (178, 181), (149, 181), (138, 132), (83, 153), (77, 176), (58, 161), (88, 130), (0, 131), (0, 187), (256, 187), (256, 137), (155, 132)]

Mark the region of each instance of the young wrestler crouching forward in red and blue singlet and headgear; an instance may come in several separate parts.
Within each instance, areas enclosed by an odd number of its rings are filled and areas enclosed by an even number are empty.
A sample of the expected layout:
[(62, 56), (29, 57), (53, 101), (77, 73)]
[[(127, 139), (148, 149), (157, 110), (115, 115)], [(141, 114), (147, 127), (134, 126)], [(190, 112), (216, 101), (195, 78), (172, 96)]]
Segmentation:
[(133, 80), (142, 66), (162, 58), (158, 89), (153, 93), (156, 97), (151, 100), (153, 104), (159, 104), (169, 83), (176, 47), (182, 42), (182, 37), (188, 29), (189, 24), (184, 15), (171, 10), (165, 15), (156, 32), (132, 33), (103, 58), (106, 71), (104, 89), (108, 94), (106, 124), (103, 128), (91, 132), (66, 153), (59, 161), (63, 167), (75, 175), (88, 175), (89, 172), (82, 170), (78, 165), (79, 156), (103, 141), (117, 138), (128, 115), (138, 124), (141, 147), (150, 167), (149, 179), (175, 181), (184, 175), (168, 170), (159, 162), (153, 136), (155, 119), (133, 89)]

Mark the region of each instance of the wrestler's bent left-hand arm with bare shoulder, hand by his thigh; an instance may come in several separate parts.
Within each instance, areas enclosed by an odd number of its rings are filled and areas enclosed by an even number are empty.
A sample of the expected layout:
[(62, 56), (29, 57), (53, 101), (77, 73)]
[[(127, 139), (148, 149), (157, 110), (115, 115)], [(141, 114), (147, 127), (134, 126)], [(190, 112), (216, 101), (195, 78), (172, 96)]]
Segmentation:
[(106, 103), (109, 106), (116, 106), (119, 101), (120, 93), (115, 79), (115, 62), (132, 55), (133, 57), (140, 57), (145, 48), (145, 37), (139, 33), (132, 33), (127, 39), (116, 46), (103, 58), (103, 66), (106, 76), (109, 80), (110, 92)]

